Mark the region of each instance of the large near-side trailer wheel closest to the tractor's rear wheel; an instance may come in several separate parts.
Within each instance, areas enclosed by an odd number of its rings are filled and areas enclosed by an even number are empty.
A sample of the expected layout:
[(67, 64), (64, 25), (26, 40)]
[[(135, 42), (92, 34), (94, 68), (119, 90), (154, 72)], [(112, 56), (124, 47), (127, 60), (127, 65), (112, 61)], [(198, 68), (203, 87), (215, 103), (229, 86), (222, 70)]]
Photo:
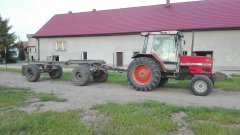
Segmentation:
[(72, 71), (73, 83), (77, 86), (84, 86), (88, 83), (90, 77), (90, 71), (87, 67), (77, 66)]

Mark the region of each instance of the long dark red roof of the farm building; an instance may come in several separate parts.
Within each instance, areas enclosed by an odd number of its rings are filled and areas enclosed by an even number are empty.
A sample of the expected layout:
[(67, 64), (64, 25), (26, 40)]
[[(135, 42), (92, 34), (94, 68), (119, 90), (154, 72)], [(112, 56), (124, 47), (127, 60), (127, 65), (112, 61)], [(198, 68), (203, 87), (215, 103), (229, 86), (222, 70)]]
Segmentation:
[(240, 28), (240, 0), (205, 0), (53, 16), (35, 37)]

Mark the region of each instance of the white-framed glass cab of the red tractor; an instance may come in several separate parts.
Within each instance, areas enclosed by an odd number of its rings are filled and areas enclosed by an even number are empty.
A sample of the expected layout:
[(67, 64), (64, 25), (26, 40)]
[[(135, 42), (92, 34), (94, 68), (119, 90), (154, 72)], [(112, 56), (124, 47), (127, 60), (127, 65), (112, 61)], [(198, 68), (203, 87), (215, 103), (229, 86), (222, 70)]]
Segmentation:
[(174, 73), (178, 71), (179, 56), (182, 55), (183, 35), (178, 31), (142, 33), (145, 36), (143, 54), (152, 54), (164, 63), (164, 68)]

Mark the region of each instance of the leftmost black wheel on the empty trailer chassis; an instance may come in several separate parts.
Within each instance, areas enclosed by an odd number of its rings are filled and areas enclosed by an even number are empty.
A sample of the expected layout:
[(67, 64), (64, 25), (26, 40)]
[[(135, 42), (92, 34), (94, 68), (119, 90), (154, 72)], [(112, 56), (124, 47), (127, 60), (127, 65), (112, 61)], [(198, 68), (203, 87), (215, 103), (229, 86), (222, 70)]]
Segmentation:
[(25, 77), (29, 82), (36, 82), (40, 78), (40, 69), (37, 65), (27, 65), (25, 69)]

